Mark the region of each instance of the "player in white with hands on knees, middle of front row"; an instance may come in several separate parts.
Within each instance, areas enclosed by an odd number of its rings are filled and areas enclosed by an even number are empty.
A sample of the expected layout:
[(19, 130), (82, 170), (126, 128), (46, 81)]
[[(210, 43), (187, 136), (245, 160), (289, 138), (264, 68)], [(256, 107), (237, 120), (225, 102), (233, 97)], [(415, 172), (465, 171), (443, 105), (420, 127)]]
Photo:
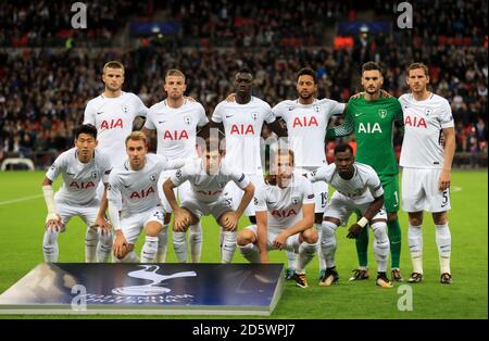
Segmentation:
[[(214, 146), (215, 144), (215, 146)], [(165, 195), (175, 213), (173, 243), (179, 262), (187, 261), (185, 233), (189, 226), (198, 224), (202, 216), (212, 214), (221, 226), (221, 262), (230, 263), (236, 250), (236, 236), (239, 218), (254, 194), (254, 186), (242, 171), (223, 157), (225, 151), (218, 149), (218, 141), (206, 143), (202, 157), (190, 160), (163, 185)], [(180, 206), (175, 199), (174, 188), (187, 181), (191, 191)], [(233, 181), (244, 191), (237, 209), (233, 197), (226, 192), (226, 185)], [(199, 260), (192, 254), (192, 262)]]

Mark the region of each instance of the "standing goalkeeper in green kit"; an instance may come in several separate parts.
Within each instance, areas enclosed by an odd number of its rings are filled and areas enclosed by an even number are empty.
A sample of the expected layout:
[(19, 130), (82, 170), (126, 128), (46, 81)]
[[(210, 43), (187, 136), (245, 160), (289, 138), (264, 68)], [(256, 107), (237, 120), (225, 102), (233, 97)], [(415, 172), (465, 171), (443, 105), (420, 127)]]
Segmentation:
[[(352, 97), (344, 113), (344, 123), (327, 129), (327, 138), (349, 136), (356, 139), (355, 161), (372, 166), (384, 187), (385, 206), (388, 214), (388, 236), (391, 251), (392, 281), (402, 281), (399, 269), (401, 255), (401, 227), (398, 219), (400, 193), (399, 166), (392, 146), (393, 125), (403, 126), (402, 108), (394, 97), (384, 96), (383, 70), (374, 62), (362, 65), (364, 92)], [(356, 253), (360, 267), (353, 270), (350, 280), (368, 278), (367, 249), (368, 229), (363, 228), (356, 237)]]

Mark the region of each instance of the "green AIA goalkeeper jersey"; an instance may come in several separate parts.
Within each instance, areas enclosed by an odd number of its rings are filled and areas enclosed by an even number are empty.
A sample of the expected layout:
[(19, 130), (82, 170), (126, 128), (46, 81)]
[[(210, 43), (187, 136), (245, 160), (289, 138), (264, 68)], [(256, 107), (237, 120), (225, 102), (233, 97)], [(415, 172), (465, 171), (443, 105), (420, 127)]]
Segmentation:
[(344, 123), (327, 130), (328, 138), (354, 132), (356, 161), (372, 166), (379, 177), (397, 175), (392, 146), (393, 125), (403, 125), (402, 108), (394, 97), (366, 101), (364, 94), (348, 101)]

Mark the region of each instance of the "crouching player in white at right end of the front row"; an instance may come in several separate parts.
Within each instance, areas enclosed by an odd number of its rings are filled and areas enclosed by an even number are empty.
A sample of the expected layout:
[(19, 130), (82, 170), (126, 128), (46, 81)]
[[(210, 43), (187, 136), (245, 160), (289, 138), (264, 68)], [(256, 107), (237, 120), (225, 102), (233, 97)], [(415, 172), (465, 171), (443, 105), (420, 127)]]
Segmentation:
[(319, 286), (330, 286), (338, 281), (336, 270), (336, 230), (354, 210), (362, 213), (362, 218), (354, 223), (348, 238), (356, 238), (369, 225), (374, 232), (374, 255), (377, 261), (376, 285), (392, 288), (387, 278), (387, 260), (389, 257), (389, 237), (387, 236), (387, 214), (384, 210), (384, 189), (374, 168), (354, 161), (353, 149), (346, 143), (335, 148), (335, 163), (308, 173), (311, 181), (326, 181), (336, 189), (324, 213), (321, 227), (321, 249), (326, 261), (326, 275)]

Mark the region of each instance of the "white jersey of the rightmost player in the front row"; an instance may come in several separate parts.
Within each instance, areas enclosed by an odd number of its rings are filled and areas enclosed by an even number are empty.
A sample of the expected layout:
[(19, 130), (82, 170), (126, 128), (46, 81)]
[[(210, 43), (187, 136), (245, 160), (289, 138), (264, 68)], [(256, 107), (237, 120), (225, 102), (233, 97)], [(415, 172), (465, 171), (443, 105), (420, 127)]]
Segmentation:
[(384, 194), (383, 185), (374, 168), (363, 163), (354, 163), (354, 174), (349, 180), (339, 176), (336, 164), (322, 166), (317, 171), (308, 173), (308, 178), (315, 181), (325, 181), (339, 193), (355, 201), (358, 204), (372, 202), (374, 198)]

